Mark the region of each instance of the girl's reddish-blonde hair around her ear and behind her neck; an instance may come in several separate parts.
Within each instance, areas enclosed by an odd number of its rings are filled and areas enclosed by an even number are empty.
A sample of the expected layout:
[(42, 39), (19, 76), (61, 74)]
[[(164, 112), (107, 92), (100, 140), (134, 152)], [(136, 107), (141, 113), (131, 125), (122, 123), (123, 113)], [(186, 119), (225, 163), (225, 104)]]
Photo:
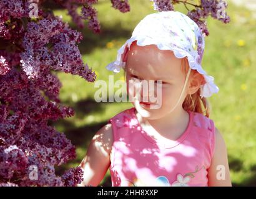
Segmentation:
[[(187, 74), (189, 71), (189, 62), (187, 58), (182, 58), (182, 72)], [(189, 78), (199, 78), (201, 84), (205, 83), (204, 76), (202, 76), (197, 70), (191, 70)], [(200, 97), (201, 88), (199, 88), (194, 94), (187, 95), (182, 103), (182, 107), (187, 111), (201, 113), (207, 118), (210, 116), (210, 103), (207, 98)]]

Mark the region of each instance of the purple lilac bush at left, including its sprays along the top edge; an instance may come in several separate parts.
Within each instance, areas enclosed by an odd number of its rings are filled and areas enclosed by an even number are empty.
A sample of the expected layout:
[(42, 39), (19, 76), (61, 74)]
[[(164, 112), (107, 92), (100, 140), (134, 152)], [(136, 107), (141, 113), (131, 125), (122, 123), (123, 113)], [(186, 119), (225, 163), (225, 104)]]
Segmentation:
[[(153, 0), (150, 0), (153, 1)], [(93, 7), (97, 0), (55, 0), (67, 9), (79, 28), (99, 33), (101, 26)], [(130, 11), (127, 0), (111, 0), (112, 7)], [(212, 16), (229, 22), (227, 3), (201, 0), (154, 0), (157, 11), (171, 11), (174, 4), (194, 6), (188, 16), (209, 35), (205, 19)], [(80, 167), (55, 174), (54, 167), (76, 158), (76, 148), (64, 133), (49, 126), (74, 116), (74, 110), (61, 104), (61, 81), (54, 71), (79, 75), (93, 82), (96, 74), (82, 56), (77, 44), (82, 35), (45, 9), (46, 1), (0, 1), (0, 186), (75, 186), (82, 181)], [(31, 9), (38, 6), (31, 15)], [(79, 11), (78, 8), (81, 7)], [(79, 12), (80, 13), (79, 13)]]

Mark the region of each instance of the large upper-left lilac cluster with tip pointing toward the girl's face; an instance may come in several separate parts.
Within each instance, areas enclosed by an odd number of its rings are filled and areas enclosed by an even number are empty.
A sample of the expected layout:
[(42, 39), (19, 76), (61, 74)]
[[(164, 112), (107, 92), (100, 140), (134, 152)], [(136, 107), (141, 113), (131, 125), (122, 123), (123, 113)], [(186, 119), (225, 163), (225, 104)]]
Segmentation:
[(84, 65), (76, 45), (81, 39), (81, 33), (69, 29), (67, 24), (57, 18), (29, 22), (23, 39), (22, 69), (28, 78), (33, 79), (45, 77), (52, 69), (94, 81), (96, 75)]

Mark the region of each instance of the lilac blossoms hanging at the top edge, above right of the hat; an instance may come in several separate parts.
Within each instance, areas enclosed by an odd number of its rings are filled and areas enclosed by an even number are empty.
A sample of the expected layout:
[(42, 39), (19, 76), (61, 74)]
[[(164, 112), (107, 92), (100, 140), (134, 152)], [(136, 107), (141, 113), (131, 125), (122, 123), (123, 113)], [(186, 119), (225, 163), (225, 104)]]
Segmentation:
[[(225, 24), (230, 22), (230, 17), (227, 15), (227, 2), (224, 0), (201, 0), (200, 4), (193, 4), (189, 1), (178, 0), (150, 0), (154, 1), (154, 9), (161, 11), (173, 11), (174, 4), (182, 3), (187, 8), (187, 16), (199, 25), (200, 30), (206, 36), (209, 35), (207, 29), (207, 17), (211, 16), (214, 19), (224, 22)], [(194, 6), (194, 9), (190, 10), (188, 5)]]

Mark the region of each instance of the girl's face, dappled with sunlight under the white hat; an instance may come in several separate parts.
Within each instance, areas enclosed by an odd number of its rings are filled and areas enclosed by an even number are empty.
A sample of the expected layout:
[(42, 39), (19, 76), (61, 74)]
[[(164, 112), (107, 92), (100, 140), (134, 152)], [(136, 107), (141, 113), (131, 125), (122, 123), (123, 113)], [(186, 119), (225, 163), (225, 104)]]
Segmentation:
[[(144, 115), (142, 114), (142, 116), (149, 119), (159, 119), (166, 116), (179, 100), (185, 83), (185, 74), (181, 70), (182, 60), (176, 58), (170, 50), (159, 50), (156, 45), (140, 47), (135, 42), (130, 45), (126, 58), (124, 58), (126, 60), (126, 83), (130, 99), (135, 97), (135, 91), (133, 93), (129, 91), (129, 80), (146, 80), (148, 86), (149, 80), (155, 81), (154, 93), (149, 92), (152, 88), (148, 87), (148, 91), (144, 92), (144, 85), (140, 86), (140, 93), (138, 94), (140, 95), (140, 103), (133, 102), (137, 111), (141, 113), (143, 111)], [(157, 80), (162, 80), (160, 96), (157, 96)], [(149, 101), (150, 99), (148, 99), (146, 102), (160, 105), (160, 108), (152, 109), (142, 103), (145, 102), (143, 99), (145, 95), (149, 98), (150, 95), (157, 96), (157, 100)], [(182, 108), (185, 96), (187, 96), (187, 88), (175, 109)]]

